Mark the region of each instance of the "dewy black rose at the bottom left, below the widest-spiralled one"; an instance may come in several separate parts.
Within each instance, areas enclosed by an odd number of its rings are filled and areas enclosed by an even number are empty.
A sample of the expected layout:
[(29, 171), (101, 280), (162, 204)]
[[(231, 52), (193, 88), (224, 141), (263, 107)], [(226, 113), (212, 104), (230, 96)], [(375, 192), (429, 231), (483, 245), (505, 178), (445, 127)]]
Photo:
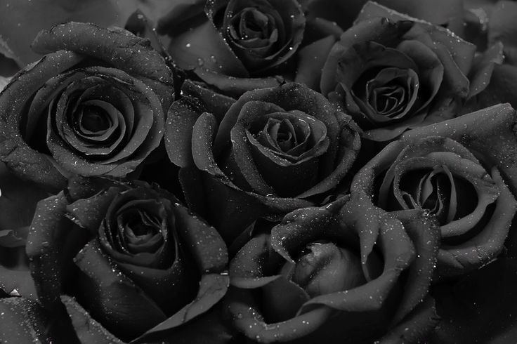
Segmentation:
[(140, 181), (74, 178), (39, 203), (27, 242), (41, 304), (69, 293), (122, 340), (176, 331), (228, 287), (216, 230)]

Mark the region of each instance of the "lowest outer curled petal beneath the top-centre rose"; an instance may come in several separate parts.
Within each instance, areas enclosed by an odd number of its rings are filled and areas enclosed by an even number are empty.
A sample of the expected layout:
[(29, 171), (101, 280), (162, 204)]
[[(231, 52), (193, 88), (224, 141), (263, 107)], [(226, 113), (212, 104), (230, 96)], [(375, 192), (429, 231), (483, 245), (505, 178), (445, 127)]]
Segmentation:
[(228, 77), (218, 71), (209, 70), (207, 67), (199, 67), (195, 74), (207, 84), (214, 86), (221, 93), (232, 97), (240, 97), (242, 93), (253, 91), (257, 88), (269, 88), (280, 86), (284, 80), (282, 77)]

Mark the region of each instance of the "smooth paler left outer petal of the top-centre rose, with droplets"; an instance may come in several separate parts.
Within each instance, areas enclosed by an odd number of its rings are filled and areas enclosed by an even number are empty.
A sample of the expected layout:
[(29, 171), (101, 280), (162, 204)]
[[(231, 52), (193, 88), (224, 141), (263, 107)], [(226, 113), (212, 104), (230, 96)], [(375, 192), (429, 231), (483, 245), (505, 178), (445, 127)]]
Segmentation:
[(204, 67), (231, 77), (249, 77), (242, 62), (208, 19), (171, 35), (168, 51), (183, 70)]

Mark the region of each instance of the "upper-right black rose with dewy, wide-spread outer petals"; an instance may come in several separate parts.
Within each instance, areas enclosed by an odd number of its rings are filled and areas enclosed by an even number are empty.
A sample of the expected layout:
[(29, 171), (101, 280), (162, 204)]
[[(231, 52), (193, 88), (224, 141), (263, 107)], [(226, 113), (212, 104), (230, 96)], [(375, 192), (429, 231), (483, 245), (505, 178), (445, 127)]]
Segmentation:
[(321, 91), (351, 114), (365, 138), (391, 140), (454, 117), (485, 89), (502, 62), (502, 45), (476, 60), (475, 52), (443, 27), (369, 2), (332, 47)]

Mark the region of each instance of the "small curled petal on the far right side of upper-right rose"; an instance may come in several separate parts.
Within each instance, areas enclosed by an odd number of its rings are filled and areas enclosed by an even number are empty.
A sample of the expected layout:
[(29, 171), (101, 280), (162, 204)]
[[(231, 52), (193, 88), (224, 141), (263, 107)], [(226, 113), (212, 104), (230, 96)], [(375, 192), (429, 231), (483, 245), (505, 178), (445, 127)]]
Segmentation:
[(490, 84), (495, 65), (501, 65), (503, 61), (504, 54), (501, 42), (497, 42), (490, 46), (490, 48), (487, 48), (482, 55), (476, 56), (472, 70), (469, 73), (469, 99), (485, 90), (488, 84)]

